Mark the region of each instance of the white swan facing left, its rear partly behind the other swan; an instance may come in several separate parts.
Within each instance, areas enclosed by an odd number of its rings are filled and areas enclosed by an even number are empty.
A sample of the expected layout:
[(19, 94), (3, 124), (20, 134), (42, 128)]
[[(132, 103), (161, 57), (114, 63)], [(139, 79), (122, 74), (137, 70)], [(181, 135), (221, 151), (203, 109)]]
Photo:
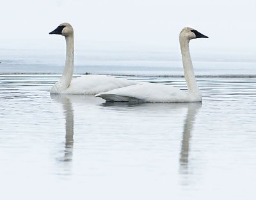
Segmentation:
[(74, 71), (74, 31), (70, 24), (60, 24), (49, 34), (65, 36), (67, 52), (63, 74), (51, 88), (51, 94), (98, 94), (119, 87), (134, 85), (138, 82), (104, 75), (84, 75), (72, 80)]

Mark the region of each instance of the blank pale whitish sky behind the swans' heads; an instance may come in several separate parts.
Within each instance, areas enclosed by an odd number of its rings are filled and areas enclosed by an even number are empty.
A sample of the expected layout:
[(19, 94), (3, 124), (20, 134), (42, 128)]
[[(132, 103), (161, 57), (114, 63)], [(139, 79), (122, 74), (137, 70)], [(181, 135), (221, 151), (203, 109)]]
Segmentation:
[(256, 55), (255, 0), (6, 0), (1, 3), (0, 48), (63, 48), (48, 33), (74, 27), (77, 49), (179, 50), (179, 32), (193, 27), (209, 39), (195, 50)]

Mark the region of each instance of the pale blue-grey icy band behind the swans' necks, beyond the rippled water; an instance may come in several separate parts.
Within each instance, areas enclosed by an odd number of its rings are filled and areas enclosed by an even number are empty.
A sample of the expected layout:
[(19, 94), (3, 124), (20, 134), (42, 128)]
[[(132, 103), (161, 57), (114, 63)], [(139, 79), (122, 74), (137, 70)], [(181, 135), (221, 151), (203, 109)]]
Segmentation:
[[(191, 46), (196, 75), (256, 77), (255, 55), (241, 53), (229, 55), (223, 52), (218, 55), (214, 54), (194, 52)], [(0, 55), (0, 75), (31, 73), (60, 75), (65, 62), (65, 46), (63, 50), (0, 49)], [(136, 76), (184, 75), (179, 50), (174, 52), (170, 50), (152, 50), (151, 52), (148, 50), (76, 50), (74, 73)]]

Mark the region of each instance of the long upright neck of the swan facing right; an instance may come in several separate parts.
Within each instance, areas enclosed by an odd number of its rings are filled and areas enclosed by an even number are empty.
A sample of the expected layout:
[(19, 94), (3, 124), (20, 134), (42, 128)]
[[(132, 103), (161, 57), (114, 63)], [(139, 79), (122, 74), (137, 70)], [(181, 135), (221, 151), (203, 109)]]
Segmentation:
[(193, 64), (191, 61), (191, 56), (189, 53), (189, 40), (180, 37), (180, 50), (182, 54), (182, 63), (184, 69), (184, 76), (188, 86), (188, 93), (201, 95), (198, 86), (196, 85), (195, 74), (193, 69)]

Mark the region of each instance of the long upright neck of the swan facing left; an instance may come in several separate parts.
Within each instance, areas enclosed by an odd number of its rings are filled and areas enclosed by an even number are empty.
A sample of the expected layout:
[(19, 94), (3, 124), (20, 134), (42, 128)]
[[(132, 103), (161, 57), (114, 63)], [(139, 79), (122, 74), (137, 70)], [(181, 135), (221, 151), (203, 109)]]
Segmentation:
[(74, 72), (74, 34), (65, 37), (66, 39), (66, 61), (63, 74), (59, 80), (61, 87), (67, 89), (71, 83)]

